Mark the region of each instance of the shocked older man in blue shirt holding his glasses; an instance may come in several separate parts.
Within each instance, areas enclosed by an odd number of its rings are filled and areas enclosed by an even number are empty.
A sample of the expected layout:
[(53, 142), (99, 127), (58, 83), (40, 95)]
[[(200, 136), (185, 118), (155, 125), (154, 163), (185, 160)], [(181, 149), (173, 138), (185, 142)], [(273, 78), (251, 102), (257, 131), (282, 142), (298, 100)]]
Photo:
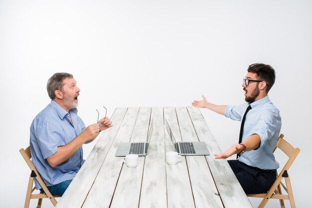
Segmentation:
[[(92, 142), (112, 122), (105, 117), (98, 124), (85, 126), (77, 115), (80, 89), (71, 74), (52, 75), (47, 91), (51, 103), (31, 124), (30, 151), (49, 191), (62, 196), (84, 162), (82, 145)], [(37, 181), (35, 186), (43, 192)]]

